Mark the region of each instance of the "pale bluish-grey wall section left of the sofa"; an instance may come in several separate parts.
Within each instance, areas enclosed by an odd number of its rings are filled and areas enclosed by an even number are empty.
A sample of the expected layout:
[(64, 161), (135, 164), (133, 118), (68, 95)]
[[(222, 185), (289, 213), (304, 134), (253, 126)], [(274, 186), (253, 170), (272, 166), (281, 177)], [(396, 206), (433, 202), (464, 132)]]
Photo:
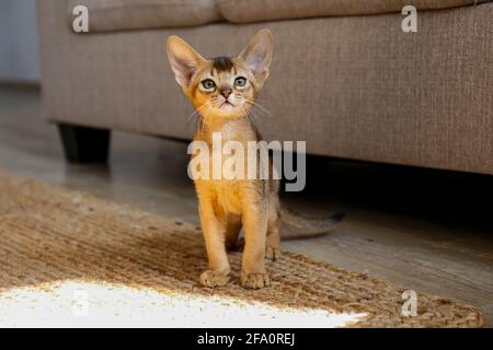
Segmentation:
[(0, 81), (39, 80), (35, 1), (0, 0)]

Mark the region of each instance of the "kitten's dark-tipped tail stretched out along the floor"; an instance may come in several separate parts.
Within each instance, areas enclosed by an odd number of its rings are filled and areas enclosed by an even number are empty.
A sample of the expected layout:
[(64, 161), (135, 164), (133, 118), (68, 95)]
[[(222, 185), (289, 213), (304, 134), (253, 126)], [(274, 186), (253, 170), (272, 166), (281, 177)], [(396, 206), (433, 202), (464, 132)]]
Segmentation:
[[(286, 206), (280, 205), (280, 221), (283, 229), (280, 240), (303, 240), (320, 237), (329, 234), (345, 217), (344, 212), (337, 212), (328, 219), (307, 219), (293, 212)], [(288, 230), (286, 230), (288, 226)]]

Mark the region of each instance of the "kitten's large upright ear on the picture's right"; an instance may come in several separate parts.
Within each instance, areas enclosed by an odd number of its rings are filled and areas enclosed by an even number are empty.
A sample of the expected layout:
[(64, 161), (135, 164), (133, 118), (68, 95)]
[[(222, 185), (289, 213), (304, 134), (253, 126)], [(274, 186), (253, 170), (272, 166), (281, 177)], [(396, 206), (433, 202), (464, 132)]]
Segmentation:
[(263, 83), (268, 77), (268, 68), (272, 60), (273, 39), (270, 30), (256, 33), (240, 54), (246, 68), (255, 75), (259, 83)]

